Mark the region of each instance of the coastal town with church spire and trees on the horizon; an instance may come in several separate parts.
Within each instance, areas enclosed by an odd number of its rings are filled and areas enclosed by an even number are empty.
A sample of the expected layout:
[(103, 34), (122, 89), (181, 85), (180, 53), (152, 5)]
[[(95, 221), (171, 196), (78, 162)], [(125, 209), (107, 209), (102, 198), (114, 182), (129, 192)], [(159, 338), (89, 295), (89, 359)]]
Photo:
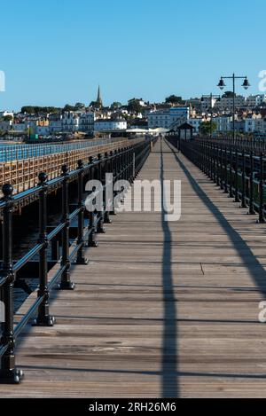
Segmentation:
[[(234, 119), (234, 120), (233, 120)], [(131, 98), (105, 106), (100, 87), (89, 105), (76, 103), (63, 108), (23, 106), (20, 112), (1, 109), (1, 139), (64, 140), (74, 137), (138, 136), (176, 131), (188, 123), (193, 136), (266, 134), (266, 94), (202, 95), (184, 99), (171, 95), (164, 102), (151, 103)]]

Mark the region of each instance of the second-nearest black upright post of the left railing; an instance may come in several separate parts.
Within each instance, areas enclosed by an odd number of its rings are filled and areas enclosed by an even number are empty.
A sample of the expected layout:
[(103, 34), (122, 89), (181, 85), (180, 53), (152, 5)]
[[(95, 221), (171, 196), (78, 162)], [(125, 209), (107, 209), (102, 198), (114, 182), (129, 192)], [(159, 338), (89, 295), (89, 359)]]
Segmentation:
[(47, 175), (42, 172), (39, 174), (39, 185), (42, 190), (39, 193), (39, 244), (43, 244), (39, 254), (39, 290), (38, 297), (43, 298), (38, 309), (38, 316), (34, 326), (53, 326), (55, 318), (49, 313), (49, 289), (48, 289), (48, 261), (47, 250), (49, 243), (47, 240)]

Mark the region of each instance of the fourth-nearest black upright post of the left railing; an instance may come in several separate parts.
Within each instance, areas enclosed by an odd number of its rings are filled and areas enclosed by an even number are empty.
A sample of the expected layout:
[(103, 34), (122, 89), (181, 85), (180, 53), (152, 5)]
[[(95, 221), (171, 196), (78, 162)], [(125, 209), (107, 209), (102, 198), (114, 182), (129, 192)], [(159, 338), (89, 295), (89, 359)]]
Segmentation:
[(78, 161), (78, 208), (80, 212), (78, 214), (78, 234), (77, 234), (77, 244), (81, 245), (77, 252), (76, 260), (74, 264), (88, 264), (88, 259), (85, 258), (84, 255), (84, 203), (83, 203), (83, 174), (84, 174), (84, 166), (82, 160)]

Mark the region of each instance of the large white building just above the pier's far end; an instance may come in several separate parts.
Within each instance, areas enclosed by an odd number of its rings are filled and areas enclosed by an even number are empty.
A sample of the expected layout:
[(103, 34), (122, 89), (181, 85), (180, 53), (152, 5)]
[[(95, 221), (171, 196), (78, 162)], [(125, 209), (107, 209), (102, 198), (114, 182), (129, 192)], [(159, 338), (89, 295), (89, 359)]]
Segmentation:
[(148, 114), (149, 129), (161, 127), (171, 129), (187, 122), (190, 116), (190, 107), (171, 107), (163, 111), (153, 111)]

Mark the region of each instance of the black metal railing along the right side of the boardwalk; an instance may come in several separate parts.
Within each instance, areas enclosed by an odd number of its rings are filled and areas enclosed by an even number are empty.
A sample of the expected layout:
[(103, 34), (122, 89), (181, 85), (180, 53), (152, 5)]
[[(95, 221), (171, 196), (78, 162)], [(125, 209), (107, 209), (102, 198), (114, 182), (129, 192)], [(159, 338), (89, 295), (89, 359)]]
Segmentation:
[[(173, 145), (178, 145), (169, 139)], [(263, 153), (244, 151), (209, 140), (181, 140), (180, 150), (198, 166), (224, 193), (248, 208), (247, 214), (258, 215), (258, 223), (265, 223), (266, 183)]]

